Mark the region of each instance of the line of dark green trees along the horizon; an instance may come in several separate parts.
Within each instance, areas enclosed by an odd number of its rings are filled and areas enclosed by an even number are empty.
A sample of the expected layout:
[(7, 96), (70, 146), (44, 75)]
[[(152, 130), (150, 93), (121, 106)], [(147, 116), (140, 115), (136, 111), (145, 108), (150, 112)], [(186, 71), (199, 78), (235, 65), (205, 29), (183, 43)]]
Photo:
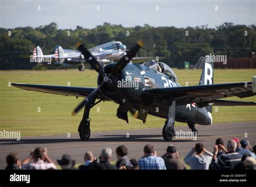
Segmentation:
[(142, 39), (144, 47), (138, 56), (159, 56), (160, 61), (171, 67), (189, 61), (196, 64), (200, 56), (207, 54), (227, 57), (248, 57), (256, 49), (256, 25), (224, 23), (216, 28), (207, 25), (176, 28), (144, 26), (124, 27), (104, 23), (92, 29), (77, 26), (74, 30), (58, 29), (56, 23), (33, 27), (0, 28), (0, 69), (31, 69), (29, 56), (35, 46), (44, 54), (53, 54), (57, 45), (75, 49), (77, 42), (86, 48), (112, 40), (121, 41), (127, 48)]

